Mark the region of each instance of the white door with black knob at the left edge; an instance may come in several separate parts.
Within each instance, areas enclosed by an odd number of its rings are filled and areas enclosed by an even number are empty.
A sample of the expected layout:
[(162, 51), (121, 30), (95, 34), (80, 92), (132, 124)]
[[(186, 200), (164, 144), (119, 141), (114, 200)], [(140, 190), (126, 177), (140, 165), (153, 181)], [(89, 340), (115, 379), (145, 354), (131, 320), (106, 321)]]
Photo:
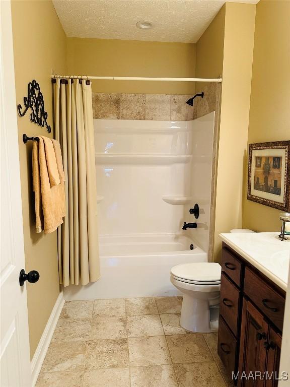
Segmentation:
[(26, 285), (19, 285), (25, 266), (10, 1), (0, 0), (0, 18), (0, 385), (31, 387)]

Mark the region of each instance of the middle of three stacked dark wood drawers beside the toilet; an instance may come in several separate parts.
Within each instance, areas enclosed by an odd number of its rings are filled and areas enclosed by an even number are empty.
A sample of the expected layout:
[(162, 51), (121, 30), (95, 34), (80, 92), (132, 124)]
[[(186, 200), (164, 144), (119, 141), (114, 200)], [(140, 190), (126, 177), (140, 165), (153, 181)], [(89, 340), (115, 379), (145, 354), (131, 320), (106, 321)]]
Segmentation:
[(227, 279), (224, 273), (221, 278), (221, 304), (220, 313), (227, 321), (228, 326), (237, 336), (239, 313), (239, 290)]

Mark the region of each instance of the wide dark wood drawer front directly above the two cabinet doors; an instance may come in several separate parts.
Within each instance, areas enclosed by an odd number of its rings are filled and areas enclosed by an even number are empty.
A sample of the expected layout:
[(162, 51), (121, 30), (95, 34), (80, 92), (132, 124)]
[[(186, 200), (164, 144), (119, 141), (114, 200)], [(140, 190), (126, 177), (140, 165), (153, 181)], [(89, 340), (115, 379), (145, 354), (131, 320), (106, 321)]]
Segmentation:
[(282, 331), (285, 299), (248, 268), (245, 270), (244, 292)]

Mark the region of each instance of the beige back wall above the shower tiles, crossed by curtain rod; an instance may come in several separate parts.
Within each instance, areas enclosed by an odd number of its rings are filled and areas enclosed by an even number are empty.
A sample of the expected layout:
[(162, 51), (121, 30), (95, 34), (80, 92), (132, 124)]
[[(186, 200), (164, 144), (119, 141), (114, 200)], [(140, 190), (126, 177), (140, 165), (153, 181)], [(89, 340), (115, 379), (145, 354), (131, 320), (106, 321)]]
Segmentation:
[[(67, 38), (68, 72), (119, 77), (195, 77), (195, 44)], [(191, 94), (190, 82), (94, 81), (95, 93)]]

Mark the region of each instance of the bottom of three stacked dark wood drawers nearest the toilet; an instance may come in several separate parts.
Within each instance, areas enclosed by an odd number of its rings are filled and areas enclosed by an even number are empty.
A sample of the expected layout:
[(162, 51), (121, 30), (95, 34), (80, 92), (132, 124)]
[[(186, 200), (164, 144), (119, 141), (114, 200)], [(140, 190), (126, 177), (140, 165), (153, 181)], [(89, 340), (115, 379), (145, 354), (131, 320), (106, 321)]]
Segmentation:
[(237, 340), (221, 316), (219, 320), (218, 354), (229, 375), (236, 372)]

